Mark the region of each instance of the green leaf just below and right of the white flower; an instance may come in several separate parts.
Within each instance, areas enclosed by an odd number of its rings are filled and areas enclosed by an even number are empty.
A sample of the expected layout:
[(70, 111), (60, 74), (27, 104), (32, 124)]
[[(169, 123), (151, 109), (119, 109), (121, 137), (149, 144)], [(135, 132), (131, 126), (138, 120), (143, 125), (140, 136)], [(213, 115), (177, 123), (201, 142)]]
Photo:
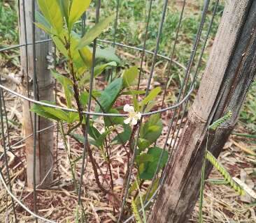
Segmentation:
[(162, 134), (162, 128), (163, 124), (159, 114), (153, 114), (148, 121), (141, 126), (140, 136), (143, 139), (147, 139), (150, 144), (152, 144)]

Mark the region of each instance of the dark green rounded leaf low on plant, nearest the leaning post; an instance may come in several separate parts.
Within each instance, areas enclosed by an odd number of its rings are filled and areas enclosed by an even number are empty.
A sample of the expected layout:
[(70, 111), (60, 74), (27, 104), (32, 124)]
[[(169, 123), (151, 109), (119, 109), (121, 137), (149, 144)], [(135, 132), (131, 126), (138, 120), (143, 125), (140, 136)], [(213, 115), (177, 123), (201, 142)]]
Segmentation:
[(152, 155), (153, 160), (152, 162), (146, 162), (140, 165), (141, 167), (140, 167), (139, 176), (141, 179), (150, 180), (153, 178), (155, 171), (157, 170), (157, 165), (162, 153), (163, 155), (159, 163), (159, 170), (162, 169), (166, 164), (168, 160), (168, 152), (163, 151), (162, 148), (158, 148), (158, 147), (152, 147), (148, 149), (147, 154)]

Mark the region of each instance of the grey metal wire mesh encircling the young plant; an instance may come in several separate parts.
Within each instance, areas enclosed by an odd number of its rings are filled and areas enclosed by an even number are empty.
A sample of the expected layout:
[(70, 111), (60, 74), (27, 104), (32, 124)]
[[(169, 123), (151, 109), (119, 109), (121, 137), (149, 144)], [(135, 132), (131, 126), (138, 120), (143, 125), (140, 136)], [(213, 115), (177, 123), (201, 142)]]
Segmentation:
[[(102, 1), (104, 3), (104, 1)], [(94, 7), (92, 12), (90, 12), (90, 15), (83, 15), (82, 21), (81, 21), (81, 25), (78, 26), (80, 29), (81, 34), (83, 35), (86, 32), (87, 29), (87, 18), (88, 17), (92, 17), (93, 15), (95, 15), (95, 23), (99, 22), (99, 18), (100, 18), (100, 10), (104, 11), (104, 8), (101, 9), (101, 3), (100, 0), (97, 0), (94, 2)], [(35, 1), (32, 1), (32, 12), (35, 12)], [(157, 164), (157, 170), (155, 171), (155, 175), (152, 178), (152, 180), (150, 181), (150, 185), (148, 185), (148, 192), (145, 195), (145, 204), (144, 207), (146, 208), (147, 206), (152, 206), (152, 203), (154, 203), (156, 197), (157, 197), (157, 192), (159, 192), (160, 188), (162, 187), (162, 185), (164, 184), (164, 179), (166, 177), (166, 171), (163, 170), (162, 172), (159, 173), (158, 169), (159, 169), (159, 165), (160, 165), (160, 161), (162, 160), (162, 156), (164, 151), (168, 151), (169, 153), (169, 159), (168, 162), (172, 162), (172, 157), (173, 154), (175, 153), (176, 149), (177, 149), (177, 142), (178, 142), (178, 136), (180, 134), (180, 131), (182, 130), (182, 126), (179, 122), (182, 123), (183, 119), (185, 118), (185, 114), (187, 111), (187, 107), (189, 105), (190, 99), (191, 99), (191, 95), (192, 92), (194, 91), (194, 87), (196, 85), (196, 80), (197, 80), (197, 75), (199, 73), (199, 70), (201, 69), (201, 61), (204, 55), (204, 51), (206, 49), (206, 45), (208, 43), (208, 38), (211, 34), (212, 31), (212, 26), (213, 26), (213, 21), (218, 9), (218, 3), (219, 1), (213, 1), (212, 5), (214, 6), (213, 9), (210, 9), (210, 0), (206, 0), (204, 1), (204, 3), (202, 4), (201, 7), (201, 14), (200, 14), (200, 21), (197, 22), (197, 33), (196, 35), (193, 37), (194, 38), (194, 43), (192, 45), (192, 49), (190, 52), (190, 58), (187, 60), (187, 64), (186, 66), (179, 63), (179, 58), (176, 56), (176, 46), (178, 45), (178, 38), (180, 36), (180, 26), (182, 26), (183, 24), (183, 20), (184, 20), (184, 10), (185, 7), (187, 6), (187, 2), (184, 0), (181, 4), (181, 8), (180, 8), (180, 15), (178, 17), (178, 24), (176, 25), (176, 32), (175, 32), (175, 36), (173, 38), (173, 41), (170, 40), (171, 42), (171, 49), (169, 49), (169, 53), (164, 55), (162, 52), (159, 53), (159, 45), (161, 43), (161, 39), (162, 36), (165, 35), (165, 33), (163, 33), (163, 27), (164, 25), (168, 26), (168, 23), (166, 22), (166, 13), (167, 13), (167, 9), (169, 7), (169, 1), (168, 0), (164, 0), (164, 1), (153, 1), (153, 0), (148, 0), (145, 1), (146, 6), (148, 6), (146, 8), (146, 13), (145, 13), (145, 18), (143, 18), (145, 20), (145, 24), (144, 24), (144, 30), (143, 30), (143, 41), (141, 43), (142, 47), (136, 47), (133, 45), (129, 45), (129, 44), (125, 44), (125, 43), (118, 43), (118, 40), (120, 40), (120, 37), (118, 37), (118, 24), (119, 24), (119, 20), (122, 17), (122, 13), (120, 13), (120, 1), (116, 1), (115, 2), (115, 22), (113, 23), (113, 36), (112, 36), (112, 40), (101, 40), (101, 39), (95, 39), (92, 45), (92, 52), (93, 52), (93, 56), (92, 56), (92, 70), (90, 72), (90, 84), (89, 84), (89, 101), (88, 101), (88, 105), (87, 105), (87, 111), (84, 111), (83, 114), (86, 117), (87, 120), (87, 125), (85, 126), (85, 132), (87, 132), (88, 128), (89, 128), (89, 123), (90, 123), (90, 118), (92, 118), (92, 116), (127, 116), (127, 114), (107, 114), (107, 113), (100, 113), (100, 112), (94, 112), (92, 110), (92, 91), (94, 89), (94, 82), (97, 82), (97, 80), (94, 79), (94, 65), (95, 65), (95, 54), (96, 54), (96, 50), (97, 50), (97, 46), (102, 46), (102, 45), (112, 45), (113, 47), (116, 47), (118, 49), (122, 49), (122, 50), (130, 50), (132, 52), (135, 52), (134, 54), (138, 55), (140, 54), (140, 60), (138, 62), (138, 67), (139, 67), (139, 79), (138, 79), (138, 86), (137, 89), (141, 89), (141, 82), (142, 80), (146, 80), (146, 87), (145, 87), (145, 96), (148, 95), (148, 93), (150, 92), (150, 87), (152, 85), (152, 79), (153, 76), (155, 75), (155, 69), (157, 68), (157, 64), (159, 61), (164, 61), (164, 64), (166, 65), (166, 69), (162, 69), (164, 72), (162, 75), (164, 76), (164, 78), (166, 80), (164, 80), (164, 93), (162, 94), (162, 100), (161, 100), (161, 105), (159, 107), (157, 107), (157, 109), (155, 109), (154, 111), (150, 111), (150, 112), (145, 112), (145, 107), (143, 107), (143, 112), (142, 112), (142, 116), (141, 116), (141, 120), (138, 124), (138, 129), (136, 130), (136, 136), (135, 138), (135, 143), (134, 143), (134, 148), (137, 147), (138, 144), (138, 139), (139, 139), (139, 132), (141, 130), (141, 124), (143, 122), (145, 122), (145, 118), (147, 116), (151, 116), (152, 114), (165, 114), (165, 116), (167, 116), (166, 114), (168, 114), (171, 118), (169, 118), (169, 120), (167, 120), (167, 125), (166, 125), (166, 134), (164, 136), (164, 143), (158, 143), (158, 146), (161, 146), (163, 148), (162, 154), (160, 155), (159, 158), (159, 162)], [(148, 36), (149, 36), (149, 29), (150, 29), (150, 22), (152, 22), (152, 6), (154, 4), (158, 4), (161, 3), (162, 4), (162, 11), (161, 11), (161, 15), (160, 15), (160, 20), (159, 20), (159, 25), (158, 25), (158, 31), (157, 31), (157, 36), (156, 39), (153, 39), (152, 41), (155, 41), (155, 45), (154, 45), (154, 49), (153, 50), (149, 50), (147, 49), (147, 42), (148, 42)], [(21, 4), (19, 4), (21, 5)], [(24, 0), (23, 0), (23, 4), (24, 6)], [(21, 10), (26, 10), (26, 8), (22, 8)], [(209, 14), (211, 14), (211, 16), (209, 16)], [(33, 21), (35, 22), (35, 13), (33, 13), (32, 15), (33, 17)], [(208, 23), (206, 24), (206, 18), (210, 17), (210, 20), (208, 20)], [(24, 17), (24, 20), (26, 20), (26, 18)], [(24, 21), (23, 20), (23, 21)], [(89, 25), (88, 25), (89, 26)], [(1, 100), (0, 100), (0, 116), (1, 116), (1, 144), (3, 146), (3, 154), (1, 154), (0, 156), (0, 160), (4, 160), (4, 166), (0, 168), (0, 180), (1, 183), (3, 185), (3, 187), (6, 189), (7, 194), (11, 197), (11, 203), (12, 203), (12, 207), (13, 207), (13, 216), (15, 219), (15, 222), (17, 222), (17, 217), (16, 217), (16, 209), (17, 206), (21, 206), (22, 208), (24, 208), (24, 210), (27, 211), (27, 213), (29, 213), (30, 215), (33, 215), (37, 220), (42, 220), (43, 222), (54, 222), (52, 220), (47, 220), (44, 217), (40, 217), (38, 215), (38, 208), (37, 208), (37, 201), (36, 201), (36, 187), (38, 187), (38, 185), (36, 186), (36, 135), (39, 132), (45, 132), (47, 130), (49, 130), (50, 128), (55, 128), (56, 125), (51, 125), (47, 128), (44, 129), (38, 129), (38, 123), (36, 123), (36, 121), (38, 120), (38, 117), (36, 116), (36, 114), (31, 113), (31, 116), (34, 116), (34, 118), (31, 118), (31, 120), (33, 119), (34, 122), (32, 123), (33, 125), (33, 129), (34, 129), (34, 133), (30, 134), (26, 137), (24, 137), (23, 139), (20, 139), (19, 141), (15, 142), (15, 143), (11, 143), (10, 142), (10, 131), (11, 129), (8, 126), (8, 114), (6, 112), (6, 104), (5, 104), (5, 98), (4, 95), (5, 93), (10, 93), (11, 95), (15, 95), (15, 97), (18, 97), (22, 100), (27, 100), (29, 102), (29, 105), (32, 104), (37, 104), (37, 105), (43, 105), (45, 107), (52, 107), (55, 109), (62, 109), (63, 111), (66, 112), (78, 112), (76, 109), (69, 109), (66, 107), (62, 107), (60, 105), (49, 105), (48, 103), (42, 102), (40, 101), (38, 95), (40, 95), (40, 92), (38, 92), (38, 86), (37, 86), (37, 74), (36, 74), (36, 45), (41, 45), (43, 43), (48, 43), (51, 40), (50, 39), (45, 39), (45, 40), (36, 40), (36, 35), (35, 35), (35, 26), (32, 25), (33, 27), (33, 31), (32, 31), (32, 42), (29, 43), (28, 38), (27, 38), (27, 27), (26, 27), (26, 22), (24, 22), (24, 33), (25, 33), (25, 43), (20, 43), (19, 45), (13, 45), (13, 46), (9, 46), (9, 47), (5, 47), (3, 49), (0, 49), (0, 53), (3, 52), (8, 52), (10, 51), (10, 49), (18, 49), (20, 47), (25, 47), (25, 52), (26, 52), (26, 58), (27, 58), (27, 74), (29, 73), (28, 70), (28, 63), (29, 63), (29, 59), (28, 59), (28, 47), (31, 46), (32, 50), (31, 52), (34, 55), (34, 73), (33, 73), (33, 91), (34, 91), (34, 95), (22, 95), (22, 93), (18, 93), (17, 91), (13, 91), (12, 89), (10, 89), (8, 86), (5, 86), (3, 84), (3, 82), (0, 82), (0, 95), (1, 95)], [(206, 32), (204, 33), (204, 36), (202, 36), (202, 32), (203, 30), (206, 30)], [(122, 40), (122, 38), (121, 38)], [(150, 70), (148, 71), (148, 73), (145, 73), (145, 70), (143, 70), (143, 63), (145, 61), (148, 61), (148, 63), (150, 63)], [(178, 86), (178, 88), (176, 88), (176, 92), (173, 93), (173, 95), (176, 95), (176, 100), (174, 102), (173, 105), (169, 105), (168, 102), (166, 102), (166, 95), (168, 93), (168, 88), (169, 88), (169, 80), (172, 78), (172, 72), (173, 72), (173, 68), (178, 68), (181, 69), (183, 71), (183, 75), (181, 75), (182, 79), (180, 80), (180, 84)], [(111, 79), (113, 78), (113, 73), (116, 72), (116, 70), (112, 69), (111, 70)], [(1, 80), (0, 80), (1, 81)], [(29, 86), (29, 82), (27, 88), (31, 87)], [(57, 95), (57, 93), (55, 93)], [(6, 123), (6, 124), (4, 124)], [(24, 203), (22, 203), (22, 199), (18, 199), (17, 197), (15, 197), (15, 195), (13, 194), (12, 191), (12, 180), (11, 180), (11, 176), (10, 176), (10, 169), (8, 168), (8, 155), (7, 152), (11, 152), (14, 153), (15, 151), (13, 150), (13, 148), (15, 148), (15, 146), (22, 144), (26, 139), (28, 139), (29, 137), (33, 137), (34, 138), (34, 188), (33, 188), (33, 194), (34, 194), (34, 210), (31, 211), (29, 210), (29, 208), (27, 208), (26, 206), (24, 206)], [(57, 141), (58, 141), (58, 132), (57, 132)], [(85, 144), (86, 141), (88, 141), (87, 138), (87, 134), (85, 134)], [(57, 146), (57, 145), (56, 145)], [(15, 153), (14, 153), (15, 154)], [(52, 155), (53, 156), (53, 155)], [(129, 186), (131, 185), (131, 180), (133, 178), (133, 167), (134, 167), (134, 162), (135, 162), (135, 157), (136, 157), (136, 153), (133, 153), (130, 163), (129, 163), (129, 173), (127, 175), (127, 180), (125, 181), (125, 193), (124, 196), (122, 197), (122, 205), (120, 206), (120, 210), (118, 212), (118, 222), (129, 222), (131, 220), (133, 220), (133, 215), (131, 215), (130, 217), (126, 217), (126, 220), (124, 220), (124, 210), (125, 207), (127, 205), (127, 198), (128, 198), (128, 194), (129, 194)], [(55, 158), (55, 157), (54, 157)], [(83, 148), (83, 156), (82, 156), (82, 166), (81, 166), (81, 170), (80, 170), (80, 180), (79, 180), (79, 190), (78, 190), (78, 204), (83, 203), (81, 200), (81, 196), (84, 193), (83, 192), (83, 176), (85, 174), (85, 166), (86, 166), (86, 160), (87, 160), (87, 150), (86, 150), (86, 146)], [(56, 164), (56, 163), (55, 163)], [(52, 168), (57, 168), (57, 167), (52, 167)], [(49, 170), (50, 172), (51, 170)], [(160, 174), (160, 175), (159, 175)], [(157, 187), (157, 190), (154, 191), (154, 193), (150, 196), (150, 192), (152, 191), (152, 187), (155, 183), (155, 180), (157, 180), (157, 178), (159, 177), (159, 185)], [(40, 184), (39, 184), (40, 185)], [(149, 199), (150, 197), (150, 199)], [(24, 199), (24, 198), (23, 198)], [(139, 210), (141, 211), (141, 210)]]

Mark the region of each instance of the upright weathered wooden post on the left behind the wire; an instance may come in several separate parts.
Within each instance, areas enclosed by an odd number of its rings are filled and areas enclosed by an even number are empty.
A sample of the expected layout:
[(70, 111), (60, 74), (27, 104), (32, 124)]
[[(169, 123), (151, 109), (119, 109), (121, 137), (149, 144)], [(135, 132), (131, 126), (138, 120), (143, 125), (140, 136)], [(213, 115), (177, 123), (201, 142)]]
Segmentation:
[[(20, 44), (32, 43), (33, 33), (33, 17), (32, 17), (32, 1), (20, 1)], [(48, 39), (48, 36), (36, 28), (36, 41)], [(48, 70), (47, 56), (52, 52), (51, 43), (36, 44), (36, 76), (39, 100), (54, 100), (53, 95), (53, 80)], [(33, 98), (33, 79), (34, 74), (34, 54), (32, 45), (21, 47), (21, 66), (22, 66), (22, 93), (30, 95)], [(23, 100), (23, 129), (25, 137), (33, 134), (34, 129), (34, 114), (29, 112), (31, 103)], [(45, 118), (38, 118), (36, 121), (37, 130), (43, 130), (52, 125), (51, 121)], [(53, 166), (53, 128), (36, 134), (36, 185), (41, 184), (41, 187), (47, 187), (52, 182), (52, 166)], [(27, 155), (27, 183), (29, 187), (33, 186), (33, 148), (34, 137), (26, 139), (26, 155)]]

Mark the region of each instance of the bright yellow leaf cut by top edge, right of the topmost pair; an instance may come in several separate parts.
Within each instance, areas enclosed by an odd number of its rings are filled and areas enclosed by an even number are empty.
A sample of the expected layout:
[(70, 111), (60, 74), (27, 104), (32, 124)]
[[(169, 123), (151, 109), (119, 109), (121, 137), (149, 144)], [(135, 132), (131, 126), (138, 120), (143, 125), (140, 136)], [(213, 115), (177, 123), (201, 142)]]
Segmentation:
[(73, 0), (69, 13), (69, 29), (85, 13), (90, 6), (91, 0)]

